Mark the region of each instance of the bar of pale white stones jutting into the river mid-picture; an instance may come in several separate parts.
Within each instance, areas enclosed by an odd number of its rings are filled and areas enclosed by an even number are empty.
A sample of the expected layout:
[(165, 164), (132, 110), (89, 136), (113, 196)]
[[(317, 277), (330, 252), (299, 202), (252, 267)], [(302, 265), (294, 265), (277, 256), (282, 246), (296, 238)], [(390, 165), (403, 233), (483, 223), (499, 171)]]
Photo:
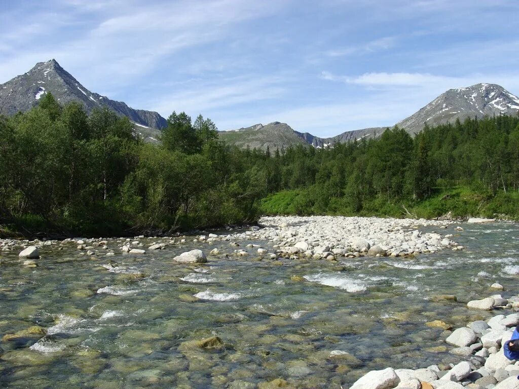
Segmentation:
[(218, 240), (269, 240), (281, 256), (307, 258), (392, 256), (404, 257), (419, 253), (434, 253), (442, 249), (462, 249), (452, 240), (453, 235), (422, 233), (418, 226), (452, 224), (446, 220), (392, 219), (342, 216), (276, 216), (263, 217), (262, 229), (232, 235), (220, 235)]

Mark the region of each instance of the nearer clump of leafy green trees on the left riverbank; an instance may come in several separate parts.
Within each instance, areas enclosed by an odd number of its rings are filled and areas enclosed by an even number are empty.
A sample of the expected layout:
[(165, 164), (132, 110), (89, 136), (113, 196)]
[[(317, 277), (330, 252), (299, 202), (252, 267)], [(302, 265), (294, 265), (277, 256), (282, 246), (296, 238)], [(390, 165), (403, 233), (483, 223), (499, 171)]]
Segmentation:
[(258, 171), (216, 127), (173, 113), (161, 145), (108, 109), (46, 94), (0, 116), (0, 225), (33, 234), (171, 232), (253, 220)]

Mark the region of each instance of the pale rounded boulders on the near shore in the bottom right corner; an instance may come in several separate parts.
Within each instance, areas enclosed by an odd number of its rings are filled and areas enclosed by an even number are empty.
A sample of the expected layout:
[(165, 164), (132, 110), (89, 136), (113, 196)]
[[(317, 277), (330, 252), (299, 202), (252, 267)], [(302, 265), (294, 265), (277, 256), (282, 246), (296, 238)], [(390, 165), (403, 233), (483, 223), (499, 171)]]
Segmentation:
[[(493, 284), (495, 289), (502, 288)], [(490, 302), (490, 305), (477, 304)], [(493, 295), (470, 301), (468, 308), (493, 310), (519, 309), (519, 297), (504, 299)], [(479, 307), (479, 308), (476, 308)], [(441, 325), (438, 321), (436, 325)], [(350, 389), (517, 389), (519, 388), (519, 361), (509, 360), (503, 354), (503, 345), (510, 340), (519, 324), (519, 313), (498, 314), (487, 321), (468, 323), (450, 333), (445, 339), (455, 346), (451, 354), (465, 356), (467, 360), (457, 365), (432, 365), (416, 370), (373, 370), (357, 380)]]

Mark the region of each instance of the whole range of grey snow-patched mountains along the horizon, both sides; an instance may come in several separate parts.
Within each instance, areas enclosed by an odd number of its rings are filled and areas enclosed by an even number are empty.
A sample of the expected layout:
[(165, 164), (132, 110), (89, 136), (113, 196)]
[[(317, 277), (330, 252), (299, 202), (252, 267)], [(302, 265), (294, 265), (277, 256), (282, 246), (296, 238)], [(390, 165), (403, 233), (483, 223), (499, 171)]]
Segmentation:
[[(36, 106), (39, 99), (48, 92), (51, 92), (61, 104), (71, 101), (83, 103), (87, 112), (96, 107), (106, 106), (118, 115), (128, 117), (134, 123), (135, 133), (149, 142), (158, 142), (161, 129), (167, 126), (167, 120), (156, 112), (133, 109), (124, 102), (110, 100), (106, 96), (89, 91), (54, 59), (38, 62), (29, 72), (0, 85), (0, 114), (26, 112)], [(517, 113), (517, 96), (496, 84), (476, 84), (467, 88), (449, 89), (413, 115), (399, 121), (397, 125), (409, 134), (415, 135), (426, 123), (432, 127), (452, 123), (456, 119), (463, 121), (466, 118), (482, 118), (485, 115)], [(220, 131), (219, 135), (222, 140), (239, 147), (275, 150), (294, 145), (331, 147), (334, 143), (377, 137), (385, 129), (386, 127), (366, 128), (321, 138), (308, 132), (295, 131), (288, 124), (276, 121), (265, 125), (254, 124), (238, 130)]]

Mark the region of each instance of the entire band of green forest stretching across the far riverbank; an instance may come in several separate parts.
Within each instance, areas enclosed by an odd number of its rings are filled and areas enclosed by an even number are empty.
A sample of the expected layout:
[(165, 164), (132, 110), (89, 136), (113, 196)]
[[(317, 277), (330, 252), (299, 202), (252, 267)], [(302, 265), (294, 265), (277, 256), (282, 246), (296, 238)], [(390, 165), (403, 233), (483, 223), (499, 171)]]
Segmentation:
[(262, 214), (519, 218), (519, 119), (398, 127), (376, 139), (261, 151), (168, 118), (160, 144), (108, 109), (46, 94), (0, 116), (0, 234), (168, 234)]

